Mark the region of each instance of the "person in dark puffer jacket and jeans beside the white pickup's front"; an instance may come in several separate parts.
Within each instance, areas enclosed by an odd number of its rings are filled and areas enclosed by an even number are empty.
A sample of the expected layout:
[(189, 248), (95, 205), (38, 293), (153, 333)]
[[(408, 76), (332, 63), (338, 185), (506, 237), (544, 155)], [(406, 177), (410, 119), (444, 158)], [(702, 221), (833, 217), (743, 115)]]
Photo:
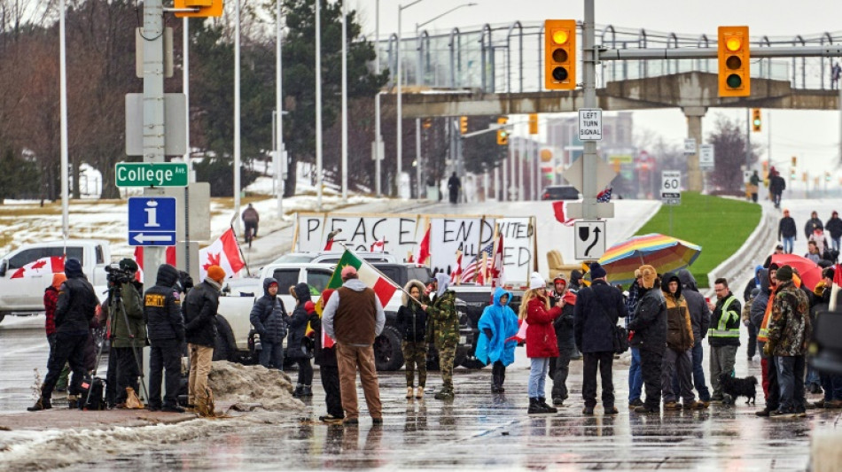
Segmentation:
[(277, 298), (277, 280), (263, 279), (263, 296), (254, 301), (249, 321), (261, 337), (261, 366), (284, 370), (286, 310)]

